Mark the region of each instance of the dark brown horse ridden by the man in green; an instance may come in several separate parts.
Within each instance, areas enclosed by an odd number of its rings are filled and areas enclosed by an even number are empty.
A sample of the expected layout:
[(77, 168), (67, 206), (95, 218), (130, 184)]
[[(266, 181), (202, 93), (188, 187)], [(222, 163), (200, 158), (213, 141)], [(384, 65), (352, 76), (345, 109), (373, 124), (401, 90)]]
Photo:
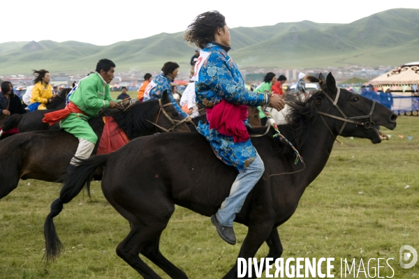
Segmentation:
[[(161, 100), (131, 105), (124, 112), (115, 112), (112, 117), (129, 140), (168, 130), (191, 131), (170, 103), (167, 93), (163, 93)], [(102, 117), (90, 119), (89, 124), (100, 139), (104, 126)], [(17, 187), (19, 179), (58, 181), (66, 174), (66, 167), (77, 146), (78, 140), (64, 130), (19, 133), (1, 141), (0, 199)], [(95, 179), (101, 179), (101, 172)]]

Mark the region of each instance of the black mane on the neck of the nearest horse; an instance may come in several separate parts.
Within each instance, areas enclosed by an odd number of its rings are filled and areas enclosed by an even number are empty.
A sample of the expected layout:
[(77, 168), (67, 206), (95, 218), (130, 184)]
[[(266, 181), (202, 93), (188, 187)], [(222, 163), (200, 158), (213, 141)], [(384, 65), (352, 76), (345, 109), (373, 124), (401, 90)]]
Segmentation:
[[(316, 77), (308, 76), (310, 81), (319, 82)], [(306, 77), (306, 80), (308, 80)], [(313, 79), (314, 78), (314, 79)], [(318, 105), (321, 103), (323, 91), (316, 90), (312, 91), (306, 100), (302, 100), (300, 97), (286, 96), (286, 103), (289, 106), (289, 112), (286, 116), (287, 124), (279, 126), (281, 132), (287, 140), (289, 140), (293, 146), (300, 150), (302, 146), (309, 140), (310, 137), (310, 126), (313, 125), (317, 119)], [(276, 140), (275, 151), (278, 151), (283, 156), (295, 156), (291, 146), (286, 142)]]

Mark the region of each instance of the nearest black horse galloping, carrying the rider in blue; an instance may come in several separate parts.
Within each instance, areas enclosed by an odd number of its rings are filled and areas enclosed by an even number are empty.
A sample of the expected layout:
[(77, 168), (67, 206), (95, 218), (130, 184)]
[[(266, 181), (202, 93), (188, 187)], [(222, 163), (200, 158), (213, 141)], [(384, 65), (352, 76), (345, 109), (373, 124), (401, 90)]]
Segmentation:
[[(307, 100), (288, 103), (291, 107), (288, 124), (279, 126), (281, 133), (300, 151), (304, 167), (294, 165), (293, 150), (273, 137), (273, 129), (252, 139), (265, 164), (265, 174), (235, 218), (235, 222), (249, 227), (238, 257), (254, 257), (264, 241), (270, 248), (267, 257), (281, 257), (283, 248), (277, 227), (291, 218), (305, 188), (325, 167), (339, 133), (344, 137), (368, 138), (376, 144), (385, 135), (378, 133), (374, 124), (390, 129), (396, 126), (396, 114), (358, 94), (337, 89), (331, 74), (327, 80), (323, 75), (308, 79), (319, 82), (321, 90)], [(185, 150), (188, 158), (184, 157)], [(93, 156), (66, 177), (59, 199), (51, 204), (44, 226), (47, 261), (54, 260), (62, 248), (52, 218), (60, 213), (63, 204), (80, 193), (89, 174), (101, 165), (106, 166), (103, 194), (131, 223), (131, 232), (119, 243), (117, 255), (144, 278), (160, 277), (140, 259), (139, 253), (171, 278), (187, 278), (161, 254), (161, 233), (175, 211), (175, 204), (212, 216), (229, 195), (237, 176), (235, 168), (217, 159), (205, 137), (198, 133), (142, 137), (114, 153)], [(139, 165), (147, 167), (138, 168)], [(301, 172), (290, 174), (297, 171)], [(224, 278), (237, 278), (237, 262)]]

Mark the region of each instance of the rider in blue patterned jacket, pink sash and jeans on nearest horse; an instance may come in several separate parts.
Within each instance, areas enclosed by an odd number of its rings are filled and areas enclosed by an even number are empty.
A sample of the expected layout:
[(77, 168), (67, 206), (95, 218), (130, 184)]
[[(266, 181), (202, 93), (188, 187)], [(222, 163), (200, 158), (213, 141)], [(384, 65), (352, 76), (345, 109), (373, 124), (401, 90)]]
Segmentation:
[(265, 105), (281, 110), (284, 100), (277, 94), (246, 89), (236, 63), (228, 54), (230, 30), (221, 13), (212, 11), (198, 15), (186, 30), (185, 40), (202, 50), (192, 80), (196, 82), (197, 102), (207, 109), (208, 122), (200, 123), (197, 130), (207, 138), (223, 163), (239, 171), (230, 195), (211, 217), (221, 239), (235, 244), (235, 215), (265, 171), (245, 128), (249, 125), (247, 106)]

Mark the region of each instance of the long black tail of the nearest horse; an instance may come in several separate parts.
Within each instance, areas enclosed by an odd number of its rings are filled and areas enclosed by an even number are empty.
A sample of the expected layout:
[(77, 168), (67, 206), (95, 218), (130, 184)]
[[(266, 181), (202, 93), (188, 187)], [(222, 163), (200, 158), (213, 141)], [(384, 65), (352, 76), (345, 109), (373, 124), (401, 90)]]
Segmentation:
[(46, 259), (46, 262), (54, 262), (64, 250), (64, 246), (57, 236), (54, 220), (52, 220), (52, 218), (63, 210), (64, 204), (71, 202), (71, 200), (80, 193), (84, 187), (84, 183), (89, 180), (91, 173), (94, 172), (97, 167), (106, 165), (108, 156), (109, 154), (98, 155), (92, 156), (87, 160), (82, 160), (82, 163), (75, 167), (64, 178), (59, 198), (52, 202), (51, 211), (44, 224), (45, 255), (43, 258)]

